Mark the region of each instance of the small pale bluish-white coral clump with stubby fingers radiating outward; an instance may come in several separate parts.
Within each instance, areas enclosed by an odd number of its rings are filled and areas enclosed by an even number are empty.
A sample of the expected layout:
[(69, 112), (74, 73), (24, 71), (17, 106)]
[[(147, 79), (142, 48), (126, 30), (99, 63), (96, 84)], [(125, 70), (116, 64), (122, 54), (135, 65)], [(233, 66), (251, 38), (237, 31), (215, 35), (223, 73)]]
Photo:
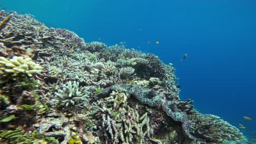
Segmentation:
[(87, 107), (89, 98), (88, 87), (79, 88), (79, 82), (71, 81), (67, 82), (67, 85), (62, 85), (63, 89), (55, 92), (55, 96), (61, 100), (62, 106), (74, 106), (76, 108)]

